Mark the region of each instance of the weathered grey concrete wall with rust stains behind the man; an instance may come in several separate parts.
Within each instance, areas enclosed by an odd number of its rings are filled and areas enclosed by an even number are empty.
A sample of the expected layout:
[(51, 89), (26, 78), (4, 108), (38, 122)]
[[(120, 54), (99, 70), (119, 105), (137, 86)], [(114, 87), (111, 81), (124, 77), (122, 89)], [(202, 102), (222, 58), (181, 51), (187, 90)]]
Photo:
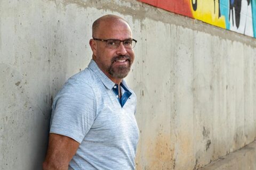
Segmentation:
[(256, 137), (256, 41), (137, 1), (0, 1), (0, 169), (41, 169), (52, 99), (91, 60), (92, 22), (138, 40), (137, 169), (197, 169)]

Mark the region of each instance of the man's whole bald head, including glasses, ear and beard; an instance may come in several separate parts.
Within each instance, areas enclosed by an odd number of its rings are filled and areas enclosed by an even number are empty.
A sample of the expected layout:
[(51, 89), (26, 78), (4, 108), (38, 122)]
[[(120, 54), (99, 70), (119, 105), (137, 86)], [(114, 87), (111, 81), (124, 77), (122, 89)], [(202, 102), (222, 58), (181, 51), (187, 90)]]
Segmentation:
[(136, 40), (132, 38), (130, 25), (119, 16), (104, 15), (93, 22), (92, 37), (92, 59), (110, 80), (120, 84), (134, 61), (130, 45), (131, 40), (134, 43)]

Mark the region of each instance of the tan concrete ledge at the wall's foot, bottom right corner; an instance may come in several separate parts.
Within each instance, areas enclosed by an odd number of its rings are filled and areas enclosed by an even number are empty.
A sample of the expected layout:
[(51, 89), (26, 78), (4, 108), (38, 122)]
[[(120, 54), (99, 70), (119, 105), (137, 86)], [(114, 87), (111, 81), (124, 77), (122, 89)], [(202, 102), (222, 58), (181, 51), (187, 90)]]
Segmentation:
[(249, 170), (256, 169), (256, 142), (230, 153), (199, 170)]

